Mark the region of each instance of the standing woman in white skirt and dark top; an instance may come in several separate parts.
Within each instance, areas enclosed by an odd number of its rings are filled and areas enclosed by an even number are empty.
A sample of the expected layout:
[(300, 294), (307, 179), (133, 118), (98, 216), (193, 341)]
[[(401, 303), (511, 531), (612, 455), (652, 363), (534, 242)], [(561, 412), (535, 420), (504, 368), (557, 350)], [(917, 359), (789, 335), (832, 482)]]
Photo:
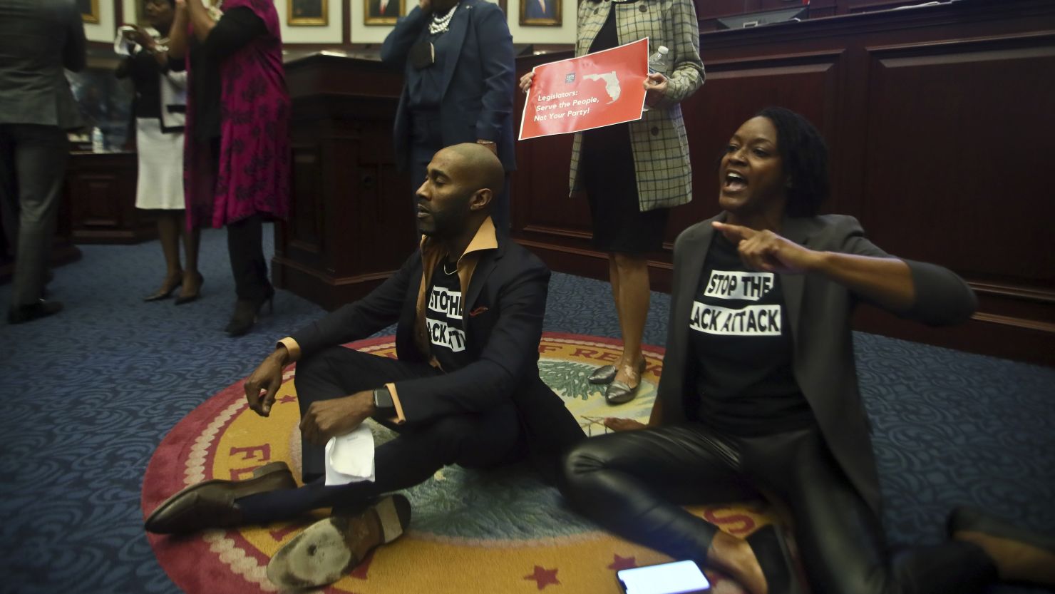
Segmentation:
[[(172, 28), (175, 6), (175, 0), (147, 0), (147, 19), (161, 35)], [(143, 301), (168, 299), (183, 287), (175, 301), (181, 305), (200, 295), (203, 283), (197, 269), (200, 231), (187, 226), (184, 198), (187, 73), (169, 70), (168, 38), (138, 26), (121, 35), (131, 54), (117, 66), (117, 78), (130, 77), (135, 88), (133, 111), (139, 160), (135, 206), (152, 211), (157, 219), (166, 264), (161, 286)], [(180, 236), (186, 267), (179, 262)]]

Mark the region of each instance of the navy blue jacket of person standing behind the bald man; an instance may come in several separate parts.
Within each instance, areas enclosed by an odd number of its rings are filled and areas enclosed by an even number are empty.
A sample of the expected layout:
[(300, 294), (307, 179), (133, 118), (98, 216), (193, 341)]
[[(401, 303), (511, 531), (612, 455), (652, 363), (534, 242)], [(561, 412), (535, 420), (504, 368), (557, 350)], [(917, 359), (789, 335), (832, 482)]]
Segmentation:
[[(381, 59), (409, 72), (410, 47), (428, 35), (431, 17), (415, 7), (396, 23), (381, 45)], [(513, 143), (513, 92), (516, 72), (513, 36), (498, 4), (462, 0), (444, 35), (456, 40), (458, 58), (448, 60), (443, 73), (440, 119), (443, 146), (494, 140), (505, 171), (516, 169)], [(402, 169), (410, 165), (410, 110), (403, 87), (396, 110), (396, 158)]]

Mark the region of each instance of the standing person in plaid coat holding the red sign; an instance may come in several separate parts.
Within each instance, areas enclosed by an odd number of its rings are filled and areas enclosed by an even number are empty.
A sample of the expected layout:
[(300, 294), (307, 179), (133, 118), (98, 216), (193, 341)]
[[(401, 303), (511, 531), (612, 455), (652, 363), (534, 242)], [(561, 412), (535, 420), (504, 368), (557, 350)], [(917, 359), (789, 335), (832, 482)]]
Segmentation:
[[(593, 218), (593, 244), (608, 253), (612, 296), (622, 334), (622, 355), (590, 382), (605, 385), (609, 404), (636, 396), (645, 369), (641, 334), (649, 312), (646, 253), (663, 246), (669, 209), (692, 199), (689, 140), (679, 103), (704, 83), (699, 30), (691, 0), (579, 3), (575, 55), (610, 50), (648, 37), (650, 52), (669, 50), (663, 72), (645, 80), (641, 119), (589, 130), (572, 146), (571, 192), (584, 190)], [(520, 79), (528, 93), (534, 73)]]

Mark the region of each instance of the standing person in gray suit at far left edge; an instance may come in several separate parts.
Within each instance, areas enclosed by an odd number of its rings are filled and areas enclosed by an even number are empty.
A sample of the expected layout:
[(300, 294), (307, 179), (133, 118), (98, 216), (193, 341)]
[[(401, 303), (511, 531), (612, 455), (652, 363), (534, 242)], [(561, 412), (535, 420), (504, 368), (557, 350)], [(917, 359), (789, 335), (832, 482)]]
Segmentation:
[(62, 69), (83, 69), (84, 46), (73, 0), (0, 2), (0, 216), (16, 246), (11, 324), (62, 309), (42, 298), (70, 158), (66, 130), (82, 124)]

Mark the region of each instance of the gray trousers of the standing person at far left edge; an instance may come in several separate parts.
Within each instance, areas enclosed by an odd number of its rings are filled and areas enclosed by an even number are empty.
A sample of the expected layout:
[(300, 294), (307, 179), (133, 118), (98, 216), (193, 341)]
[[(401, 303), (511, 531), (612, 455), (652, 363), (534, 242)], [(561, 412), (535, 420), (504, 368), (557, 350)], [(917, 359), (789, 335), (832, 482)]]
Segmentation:
[(43, 291), (69, 159), (62, 129), (0, 123), (0, 216), (15, 249), (12, 307), (36, 303)]

